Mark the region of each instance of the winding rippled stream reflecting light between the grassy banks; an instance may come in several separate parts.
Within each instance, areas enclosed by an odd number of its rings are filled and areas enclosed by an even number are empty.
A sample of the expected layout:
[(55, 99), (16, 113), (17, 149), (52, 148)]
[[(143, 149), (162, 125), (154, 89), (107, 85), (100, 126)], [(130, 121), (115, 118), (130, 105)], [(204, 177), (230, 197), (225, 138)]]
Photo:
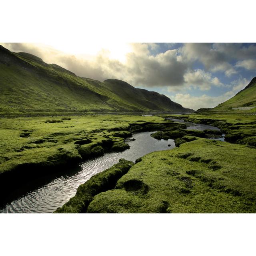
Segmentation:
[[(176, 122), (183, 120), (172, 119)], [(216, 127), (192, 124), (188, 129), (219, 130)], [(9, 202), (0, 210), (1, 213), (51, 213), (56, 208), (66, 203), (76, 194), (80, 184), (90, 179), (91, 176), (106, 170), (118, 163), (120, 158), (135, 160), (153, 151), (167, 150), (175, 147), (174, 140), (156, 140), (150, 136), (152, 132), (140, 132), (134, 134), (134, 141), (127, 142), (130, 148), (123, 152), (106, 153), (104, 156), (87, 160), (78, 167), (62, 170), (61, 174), (46, 176), (39, 181), (28, 182), (17, 188), (10, 195)], [(219, 140), (224, 140), (220, 138)], [(170, 146), (168, 146), (170, 144)], [(32, 184), (33, 183), (33, 184)], [(30, 188), (30, 191), (28, 191)]]

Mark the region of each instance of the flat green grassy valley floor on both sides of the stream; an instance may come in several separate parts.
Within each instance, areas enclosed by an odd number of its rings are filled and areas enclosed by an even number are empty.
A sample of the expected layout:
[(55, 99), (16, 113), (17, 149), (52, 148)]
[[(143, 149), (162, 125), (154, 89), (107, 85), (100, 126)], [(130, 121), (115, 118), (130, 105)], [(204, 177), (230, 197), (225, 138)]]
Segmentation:
[[(114, 167), (97, 174), (88, 181), (90, 186), (99, 185), (89, 201), (80, 190), (72, 204), (57, 212), (256, 212), (255, 116), (173, 116), (218, 126), (232, 143), (209, 140), (210, 131), (185, 130), (184, 124), (166, 117), (171, 116), (1, 118), (1, 186), (9, 186), (8, 177), (22, 182), (54, 172), (58, 166), (124, 150), (128, 148), (124, 139), (132, 132), (158, 130), (153, 135), (156, 139), (173, 138), (179, 147), (147, 154), (134, 166), (122, 162), (126, 174), (118, 174)], [(132, 166), (130, 170), (126, 164)], [(112, 173), (118, 178), (108, 186), (106, 180)], [(99, 180), (105, 182), (103, 189)]]

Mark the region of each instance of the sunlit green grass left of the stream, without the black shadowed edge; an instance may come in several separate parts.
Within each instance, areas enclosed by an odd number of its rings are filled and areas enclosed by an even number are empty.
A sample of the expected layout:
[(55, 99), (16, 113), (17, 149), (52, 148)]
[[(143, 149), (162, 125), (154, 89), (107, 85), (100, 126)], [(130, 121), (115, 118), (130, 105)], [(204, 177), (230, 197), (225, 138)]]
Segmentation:
[[(128, 131), (130, 124), (141, 118), (133, 115), (88, 115), (71, 116), (71, 120), (50, 123), (46, 123), (44, 117), (1, 118), (0, 174), (29, 163), (52, 166), (52, 156), (65, 155), (65, 152), (69, 152), (68, 156), (72, 158), (81, 159), (82, 156), (88, 159), (106, 150), (124, 150), (128, 147), (124, 138), (132, 135)], [(145, 129), (150, 123), (164, 123), (156, 116), (143, 119), (140, 125), (147, 125)]]

